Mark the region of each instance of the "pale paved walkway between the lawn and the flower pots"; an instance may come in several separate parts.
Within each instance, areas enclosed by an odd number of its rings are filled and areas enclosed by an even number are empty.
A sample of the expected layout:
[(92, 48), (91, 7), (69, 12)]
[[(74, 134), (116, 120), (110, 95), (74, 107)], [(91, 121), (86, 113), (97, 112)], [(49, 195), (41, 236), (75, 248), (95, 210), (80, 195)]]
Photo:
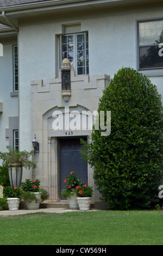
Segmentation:
[[(41, 208), (38, 210), (7, 210), (7, 211), (0, 211), (0, 218), (2, 215), (20, 215), (20, 214), (26, 214), (26, 213), (33, 213), (33, 212), (56, 212), (56, 213), (62, 213), (62, 212), (74, 212), (79, 210), (71, 210), (68, 208)], [(89, 211), (96, 211), (96, 209), (90, 209)]]

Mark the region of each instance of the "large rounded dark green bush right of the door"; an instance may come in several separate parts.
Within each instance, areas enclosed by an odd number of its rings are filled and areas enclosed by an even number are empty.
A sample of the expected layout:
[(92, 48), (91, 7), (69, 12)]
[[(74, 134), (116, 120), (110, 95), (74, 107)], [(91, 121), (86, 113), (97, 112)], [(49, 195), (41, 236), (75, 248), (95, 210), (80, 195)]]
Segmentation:
[(158, 194), (162, 178), (162, 104), (156, 86), (131, 68), (122, 68), (99, 102), (111, 111), (111, 134), (92, 130), (89, 163), (102, 197), (114, 209), (141, 209)]

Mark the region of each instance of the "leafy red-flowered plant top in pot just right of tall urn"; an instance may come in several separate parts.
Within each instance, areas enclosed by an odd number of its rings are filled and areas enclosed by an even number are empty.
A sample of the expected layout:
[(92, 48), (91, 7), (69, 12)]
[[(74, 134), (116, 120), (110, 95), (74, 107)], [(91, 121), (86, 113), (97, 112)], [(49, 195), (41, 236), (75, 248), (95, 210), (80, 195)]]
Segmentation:
[(30, 180), (26, 179), (25, 181), (20, 183), (20, 186), (24, 192), (39, 192), (40, 191), (40, 180)]

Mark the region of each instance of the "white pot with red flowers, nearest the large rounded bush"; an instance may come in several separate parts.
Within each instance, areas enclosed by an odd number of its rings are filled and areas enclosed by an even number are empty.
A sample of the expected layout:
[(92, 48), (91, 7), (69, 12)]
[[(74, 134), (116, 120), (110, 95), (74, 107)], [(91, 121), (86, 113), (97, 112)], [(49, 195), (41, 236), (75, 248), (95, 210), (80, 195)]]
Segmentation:
[(78, 186), (76, 188), (77, 201), (79, 205), (79, 210), (90, 210), (91, 197), (93, 194), (93, 189), (90, 186)]

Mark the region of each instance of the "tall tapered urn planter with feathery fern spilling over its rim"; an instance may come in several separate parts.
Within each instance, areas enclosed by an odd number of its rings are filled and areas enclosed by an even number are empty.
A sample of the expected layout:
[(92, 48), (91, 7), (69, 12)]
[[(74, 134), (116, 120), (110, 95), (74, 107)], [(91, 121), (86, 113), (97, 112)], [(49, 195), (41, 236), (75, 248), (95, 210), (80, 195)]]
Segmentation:
[(18, 187), (22, 180), (22, 170), (24, 168), (36, 168), (36, 163), (30, 160), (34, 151), (27, 152), (16, 150), (7, 146), (8, 152), (0, 152), (0, 159), (8, 165), (9, 181), (12, 188)]

